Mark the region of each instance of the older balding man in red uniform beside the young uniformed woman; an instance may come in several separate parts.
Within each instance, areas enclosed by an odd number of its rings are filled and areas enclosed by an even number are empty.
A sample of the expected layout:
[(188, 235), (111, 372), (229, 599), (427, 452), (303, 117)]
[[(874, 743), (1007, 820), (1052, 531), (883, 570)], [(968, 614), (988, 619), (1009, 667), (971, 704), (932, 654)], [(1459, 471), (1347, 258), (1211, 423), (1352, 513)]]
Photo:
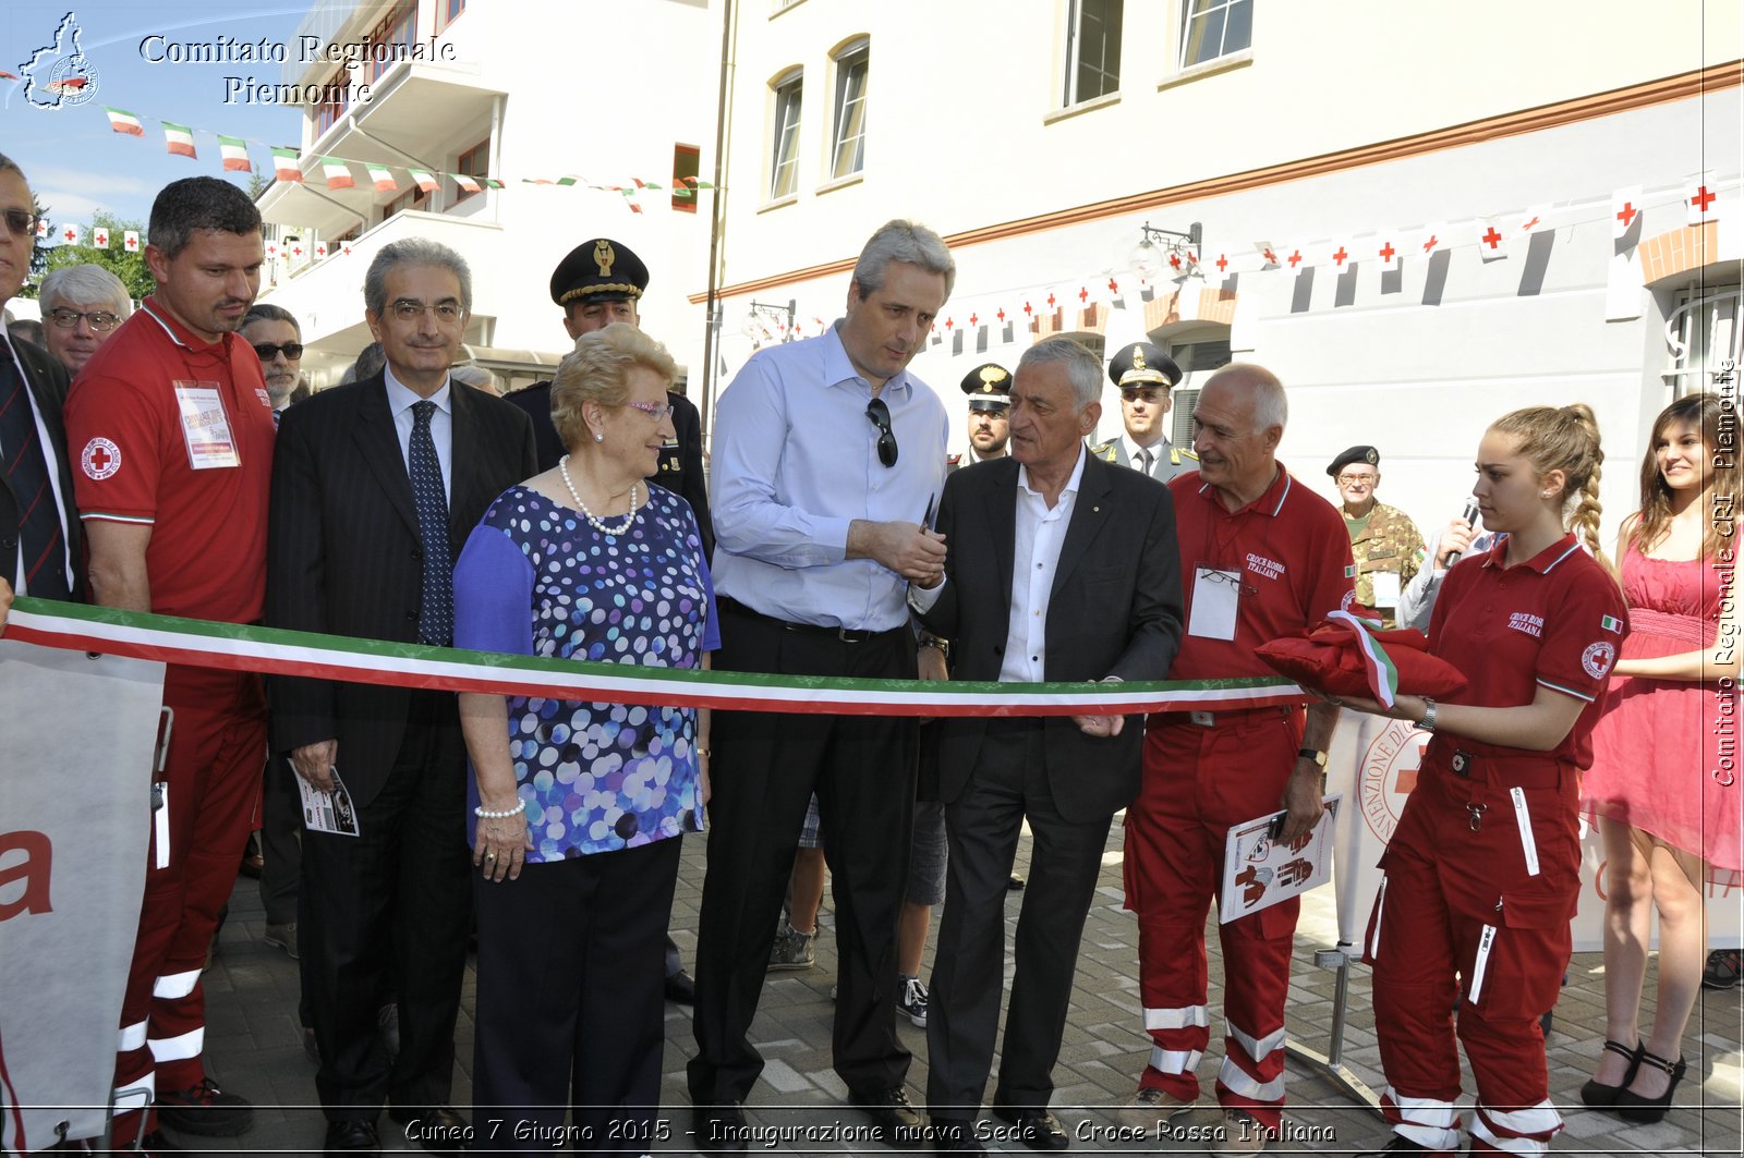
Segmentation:
[[(1275, 675), (1254, 649), (1348, 607), (1350, 535), (1338, 511), (1277, 460), (1289, 406), (1271, 371), (1224, 366), (1193, 412), (1200, 469), (1175, 499), (1188, 633), (1170, 678)], [(1139, 987), (1155, 1048), (1121, 1118), (1155, 1127), (1198, 1099), (1210, 1041), (1205, 914), (1231, 825), (1287, 809), (1282, 839), (1320, 818), (1322, 767), (1338, 710), (1165, 712), (1149, 719), (1144, 785), (1127, 809), (1127, 907), (1139, 914)], [(1219, 1151), (1257, 1151), (1284, 1106), (1284, 998), (1298, 902), (1219, 926), (1224, 1062)]]

